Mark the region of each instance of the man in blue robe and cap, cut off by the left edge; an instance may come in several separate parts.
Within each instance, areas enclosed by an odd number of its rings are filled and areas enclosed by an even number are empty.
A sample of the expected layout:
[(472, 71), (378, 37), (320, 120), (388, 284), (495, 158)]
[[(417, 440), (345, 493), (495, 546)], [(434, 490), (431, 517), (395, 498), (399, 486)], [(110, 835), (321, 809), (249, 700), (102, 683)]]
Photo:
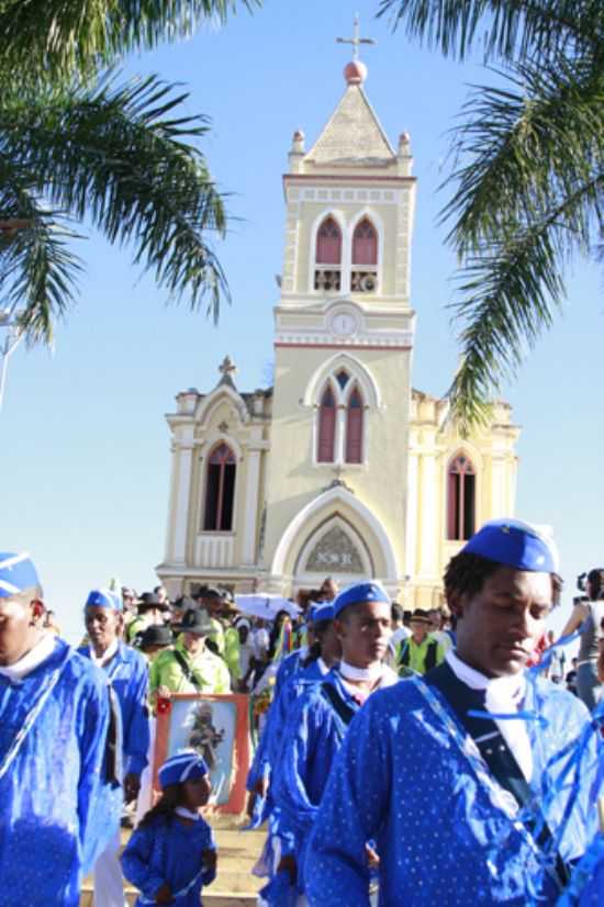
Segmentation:
[(0, 907), (77, 907), (122, 804), (107, 679), (41, 600), (29, 556), (0, 553)]

